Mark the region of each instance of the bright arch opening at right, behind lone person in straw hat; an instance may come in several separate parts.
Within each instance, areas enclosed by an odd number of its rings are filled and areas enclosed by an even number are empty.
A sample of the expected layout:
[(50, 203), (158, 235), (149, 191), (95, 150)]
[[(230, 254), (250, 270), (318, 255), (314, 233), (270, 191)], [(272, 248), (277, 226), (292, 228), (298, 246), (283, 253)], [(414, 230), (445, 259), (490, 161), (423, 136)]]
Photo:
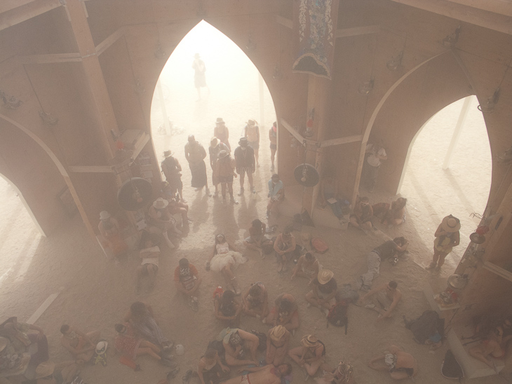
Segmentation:
[[(492, 156), (476, 96), (464, 97), (432, 116), (410, 143), (398, 192), (418, 233), (433, 232), (448, 214), (461, 220), (461, 242), (446, 263), (453, 268), (469, 245), (489, 198)], [(475, 215), (476, 214), (476, 215)], [(431, 254), (421, 256), (429, 263)]]

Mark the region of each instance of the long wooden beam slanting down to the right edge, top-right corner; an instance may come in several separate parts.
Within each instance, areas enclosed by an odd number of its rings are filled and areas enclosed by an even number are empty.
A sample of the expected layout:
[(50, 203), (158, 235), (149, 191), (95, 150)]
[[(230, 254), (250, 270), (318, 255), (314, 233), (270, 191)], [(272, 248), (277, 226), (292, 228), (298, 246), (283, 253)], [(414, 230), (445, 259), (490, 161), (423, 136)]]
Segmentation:
[(489, 11), (456, 4), (448, 0), (391, 0), (395, 3), (412, 6), (424, 11), (437, 13), (455, 20), (469, 22), (469, 24), (478, 25), (492, 29), (504, 34), (512, 34), (512, 18), (507, 15), (500, 15)]

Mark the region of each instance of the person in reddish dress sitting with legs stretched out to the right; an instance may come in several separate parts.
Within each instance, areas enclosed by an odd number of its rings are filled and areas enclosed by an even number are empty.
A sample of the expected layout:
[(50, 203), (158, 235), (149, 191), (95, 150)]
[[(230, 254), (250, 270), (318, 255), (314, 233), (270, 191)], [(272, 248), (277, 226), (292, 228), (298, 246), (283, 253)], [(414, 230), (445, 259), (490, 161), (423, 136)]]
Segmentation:
[(114, 338), (114, 347), (122, 355), (130, 357), (132, 360), (135, 360), (137, 356), (149, 355), (161, 362), (163, 365), (176, 365), (175, 362), (172, 362), (168, 358), (168, 355), (164, 355), (162, 353), (161, 348), (147, 340), (143, 340), (142, 338), (135, 336), (135, 331), (130, 323), (126, 322), (124, 324), (115, 324), (114, 329), (116, 329), (117, 332), (117, 335)]

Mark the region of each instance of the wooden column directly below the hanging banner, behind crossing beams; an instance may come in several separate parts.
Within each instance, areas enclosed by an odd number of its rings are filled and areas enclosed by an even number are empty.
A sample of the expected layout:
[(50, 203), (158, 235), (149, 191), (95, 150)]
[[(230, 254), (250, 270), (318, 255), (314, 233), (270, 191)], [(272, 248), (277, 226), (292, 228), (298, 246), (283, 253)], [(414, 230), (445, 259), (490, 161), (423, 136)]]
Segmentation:
[[(313, 121), (313, 137), (309, 139), (321, 142), (325, 139), (325, 132), (328, 129), (330, 121), (330, 100), (332, 93), (332, 81), (328, 78), (309, 75), (308, 79), (308, 100), (307, 117), (309, 119), (311, 110), (315, 109)], [(309, 145), (306, 147), (306, 163), (316, 167), (319, 173), (322, 172), (323, 153), (320, 146)], [(313, 188), (306, 188), (302, 198), (302, 208), (313, 214), (316, 206), (316, 198), (320, 191), (320, 183)]]

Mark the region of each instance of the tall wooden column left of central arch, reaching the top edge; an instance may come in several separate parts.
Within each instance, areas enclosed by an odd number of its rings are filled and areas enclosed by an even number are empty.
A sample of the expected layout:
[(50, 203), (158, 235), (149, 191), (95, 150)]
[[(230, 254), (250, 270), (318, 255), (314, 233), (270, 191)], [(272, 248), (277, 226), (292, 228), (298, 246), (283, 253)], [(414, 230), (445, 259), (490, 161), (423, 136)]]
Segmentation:
[(80, 0), (67, 0), (66, 7), (82, 58), (83, 71), (89, 86), (90, 96), (94, 102), (93, 112), (101, 128), (98, 130), (100, 143), (105, 151), (105, 157), (112, 158), (116, 149), (114, 140), (110, 137), (110, 130), (118, 133), (119, 129), (110, 102), (107, 84), (105, 78), (103, 78), (100, 60), (94, 46), (93, 36), (90, 33), (86, 11)]

